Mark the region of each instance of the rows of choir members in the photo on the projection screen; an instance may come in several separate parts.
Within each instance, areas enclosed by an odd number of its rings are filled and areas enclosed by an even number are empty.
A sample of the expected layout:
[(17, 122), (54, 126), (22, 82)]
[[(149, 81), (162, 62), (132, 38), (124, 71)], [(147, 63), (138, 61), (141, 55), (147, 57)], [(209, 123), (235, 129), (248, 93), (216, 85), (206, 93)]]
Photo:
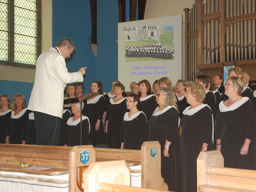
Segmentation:
[(157, 44), (129, 46), (125, 48), (125, 52), (127, 57), (152, 57), (164, 60), (172, 60), (173, 54), (172, 49)]

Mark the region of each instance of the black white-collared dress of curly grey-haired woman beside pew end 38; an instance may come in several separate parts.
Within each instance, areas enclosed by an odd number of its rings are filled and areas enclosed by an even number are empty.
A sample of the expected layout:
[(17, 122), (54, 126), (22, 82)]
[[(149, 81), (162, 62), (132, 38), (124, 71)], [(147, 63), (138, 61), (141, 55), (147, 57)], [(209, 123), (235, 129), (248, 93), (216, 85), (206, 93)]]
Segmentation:
[[(148, 140), (159, 141), (161, 144), (161, 174), (169, 190), (176, 191), (178, 160), (180, 150), (179, 112), (173, 106), (168, 106), (161, 111), (156, 108), (148, 120)], [(171, 143), (169, 148), (170, 157), (163, 154), (165, 140)]]

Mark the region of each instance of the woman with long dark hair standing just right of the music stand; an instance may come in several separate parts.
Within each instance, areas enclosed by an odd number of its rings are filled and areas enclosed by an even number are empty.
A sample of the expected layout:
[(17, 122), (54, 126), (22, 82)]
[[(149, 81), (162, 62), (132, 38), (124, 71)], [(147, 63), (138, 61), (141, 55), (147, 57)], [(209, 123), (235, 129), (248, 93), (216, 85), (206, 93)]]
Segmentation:
[(91, 92), (99, 93), (87, 100), (85, 116), (88, 116), (91, 125), (89, 138), (93, 146), (105, 144), (105, 130), (103, 124), (103, 114), (105, 108), (105, 99), (102, 91), (101, 81), (93, 81)]

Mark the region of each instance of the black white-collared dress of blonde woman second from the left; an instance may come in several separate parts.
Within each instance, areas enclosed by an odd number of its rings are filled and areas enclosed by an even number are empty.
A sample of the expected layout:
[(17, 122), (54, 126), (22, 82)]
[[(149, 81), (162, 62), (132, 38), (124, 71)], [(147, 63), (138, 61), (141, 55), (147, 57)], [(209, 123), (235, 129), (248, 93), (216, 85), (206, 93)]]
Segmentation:
[(26, 118), (30, 112), (31, 111), (25, 108), (17, 115), (14, 115), (14, 111), (12, 111), (11, 121), (6, 133), (6, 135), (10, 135), (10, 144), (21, 144), (21, 134), (25, 126)]

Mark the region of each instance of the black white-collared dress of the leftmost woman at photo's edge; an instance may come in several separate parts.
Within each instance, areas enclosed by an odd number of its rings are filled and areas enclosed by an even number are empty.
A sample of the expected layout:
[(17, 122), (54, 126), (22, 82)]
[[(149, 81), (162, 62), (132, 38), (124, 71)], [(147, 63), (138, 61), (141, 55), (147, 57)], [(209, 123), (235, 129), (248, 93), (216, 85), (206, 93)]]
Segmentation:
[(0, 113), (0, 143), (5, 143), (8, 122), (11, 120), (12, 110), (8, 109)]

